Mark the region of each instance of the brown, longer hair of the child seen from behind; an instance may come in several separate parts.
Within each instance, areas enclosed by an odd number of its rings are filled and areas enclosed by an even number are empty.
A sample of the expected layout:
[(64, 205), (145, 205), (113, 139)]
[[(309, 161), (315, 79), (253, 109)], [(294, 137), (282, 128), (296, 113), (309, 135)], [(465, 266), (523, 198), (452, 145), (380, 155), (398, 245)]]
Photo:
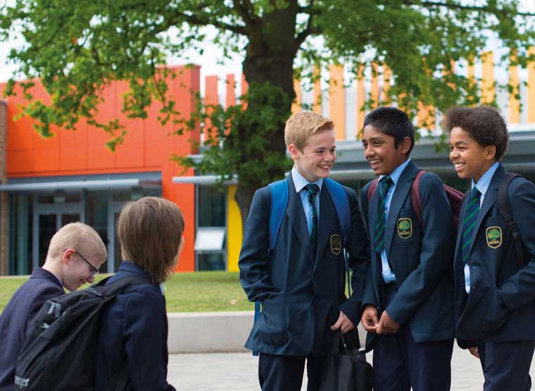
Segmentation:
[(158, 284), (172, 275), (183, 232), (180, 208), (159, 197), (129, 202), (117, 222), (122, 258), (144, 268)]

